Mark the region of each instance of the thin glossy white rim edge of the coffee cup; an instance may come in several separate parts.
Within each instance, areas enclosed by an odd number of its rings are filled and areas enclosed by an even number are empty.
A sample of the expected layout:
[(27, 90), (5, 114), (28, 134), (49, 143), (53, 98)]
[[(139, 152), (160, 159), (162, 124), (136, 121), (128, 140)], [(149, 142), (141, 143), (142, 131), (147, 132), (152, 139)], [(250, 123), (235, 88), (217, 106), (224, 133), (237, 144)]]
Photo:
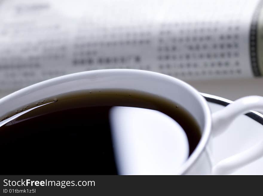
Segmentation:
[(195, 99), (198, 100), (198, 102), (201, 104), (203, 112), (204, 112), (204, 129), (202, 132), (202, 136), (200, 141), (198, 142), (197, 147), (193, 151), (193, 153), (189, 156), (189, 158), (186, 160), (186, 162), (177, 170), (171, 171), (175, 172), (173, 174), (184, 174), (186, 173), (190, 167), (197, 161), (198, 157), (201, 155), (201, 153), (205, 150), (205, 147), (207, 145), (208, 139), (210, 137), (210, 132), (211, 132), (211, 112), (210, 108), (207, 104), (207, 101), (205, 98), (191, 85), (187, 84), (186, 82), (174, 78), (172, 76), (168, 76), (162, 73), (157, 73), (153, 71), (146, 71), (146, 70), (136, 70), (136, 69), (102, 69), (102, 70), (91, 70), (91, 71), (84, 71), (84, 72), (78, 72), (78, 73), (72, 73), (64, 76), (59, 76), (56, 78), (48, 79), (33, 85), (30, 85), (28, 87), (22, 88), (16, 92), (13, 92), (3, 98), (0, 99), (0, 104), (3, 104), (5, 101), (8, 101), (9, 99), (12, 98), (19, 98), (20, 95), (24, 93), (30, 93), (34, 90), (37, 90), (39, 88), (47, 87), (47, 86), (52, 86), (54, 84), (58, 84), (61, 82), (65, 81), (72, 81), (78, 78), (85, 77), (89, 75), (97, 75), (100, 73), (108, 73), (108, 74), (121, 74), (121, 73), (130, 73), (130, 74), (147, 74), (148, 76), (154, 76), (154, 77), (160, 77), (163, 80), (166, 80), (171, 83), (176, 83), (177, 85), (181, 85), (184, 88), (187, 88), (189, 91), (192, 92), (192, 95), (194, 96)]

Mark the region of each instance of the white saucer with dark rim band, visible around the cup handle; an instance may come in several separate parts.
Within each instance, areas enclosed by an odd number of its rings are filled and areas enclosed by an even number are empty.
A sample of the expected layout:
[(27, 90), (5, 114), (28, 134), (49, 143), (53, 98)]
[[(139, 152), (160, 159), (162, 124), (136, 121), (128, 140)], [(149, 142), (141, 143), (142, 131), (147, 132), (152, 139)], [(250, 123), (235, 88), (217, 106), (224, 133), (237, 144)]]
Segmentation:
[[(212, 112), (223, 109), (232, 101), (204, 94)], [(263, 139), (263, 115), (250, 112), (241, 115), (233, 121), (231, 126), (220, 136), (212, 139), (213, 162), (227, 158), (251, 147)], [(233, 175), (263, 175), (263, 157), (236, 170)]]

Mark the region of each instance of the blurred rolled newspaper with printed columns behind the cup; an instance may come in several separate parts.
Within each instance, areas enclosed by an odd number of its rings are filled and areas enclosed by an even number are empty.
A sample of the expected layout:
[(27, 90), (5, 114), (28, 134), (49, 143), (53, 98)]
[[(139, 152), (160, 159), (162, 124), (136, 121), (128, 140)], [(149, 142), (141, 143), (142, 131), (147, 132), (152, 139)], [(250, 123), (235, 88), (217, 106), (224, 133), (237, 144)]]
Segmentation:
[(0, 93), (96, 69), (261, 76), (262, 15), (259, 0), (0, 1)]

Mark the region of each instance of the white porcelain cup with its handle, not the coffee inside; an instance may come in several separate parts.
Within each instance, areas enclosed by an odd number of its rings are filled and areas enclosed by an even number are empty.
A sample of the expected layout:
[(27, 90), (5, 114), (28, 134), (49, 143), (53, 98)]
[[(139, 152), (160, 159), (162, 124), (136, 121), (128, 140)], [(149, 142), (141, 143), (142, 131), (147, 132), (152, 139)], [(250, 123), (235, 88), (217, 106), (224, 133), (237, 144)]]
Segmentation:
[[(189, 84), (150, 71), (129, 69), (94, 70), (43, 81), (1, 98), (0, 116), (14, 114), (17, 109), (46, 97), (53, 99), (56, 98), (56, 95), (62, 93), (97, 89), (138, 90), (151, 93), (174, 101), (191, 113), (201, 129), (201, 140), (184, 164), (180, 168), (172, 170), (169, 174), (228, 174), (263, 155), (263, 142), (260, 142), (242, 153), (220, 161), (214, 166), (212, 166), (210, 160), (212, 153), (211, 137), (216, 137), (216, 135), (226, 130), (238, 115), (245, 114), (250, 110), (263, 110), (262, 97), (244, 97), (211, 114), (207, 101)], [(17, 115), (11, 118), (17, 117)], [(11, 118), (9, 116), (7, 120)], [(2, 124), (4, 124), (4, 121), (0, 123), (0, 126)]]

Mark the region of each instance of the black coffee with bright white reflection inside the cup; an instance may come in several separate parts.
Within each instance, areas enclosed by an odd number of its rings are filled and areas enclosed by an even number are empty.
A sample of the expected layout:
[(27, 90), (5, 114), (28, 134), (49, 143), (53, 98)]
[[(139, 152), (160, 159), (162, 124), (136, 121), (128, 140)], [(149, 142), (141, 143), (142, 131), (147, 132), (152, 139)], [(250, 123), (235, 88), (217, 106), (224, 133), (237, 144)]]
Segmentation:
[(98, 90), (56, 98), (0, 127), (2, 173), (166, 173), (167, 167), (176, 169), (171, 161), (178, 161), (178, 153), (186, 152), (179, 136), (187, 136), (187, 157), (201, 138), (196, 121), (183, 107), (155, 95)]

